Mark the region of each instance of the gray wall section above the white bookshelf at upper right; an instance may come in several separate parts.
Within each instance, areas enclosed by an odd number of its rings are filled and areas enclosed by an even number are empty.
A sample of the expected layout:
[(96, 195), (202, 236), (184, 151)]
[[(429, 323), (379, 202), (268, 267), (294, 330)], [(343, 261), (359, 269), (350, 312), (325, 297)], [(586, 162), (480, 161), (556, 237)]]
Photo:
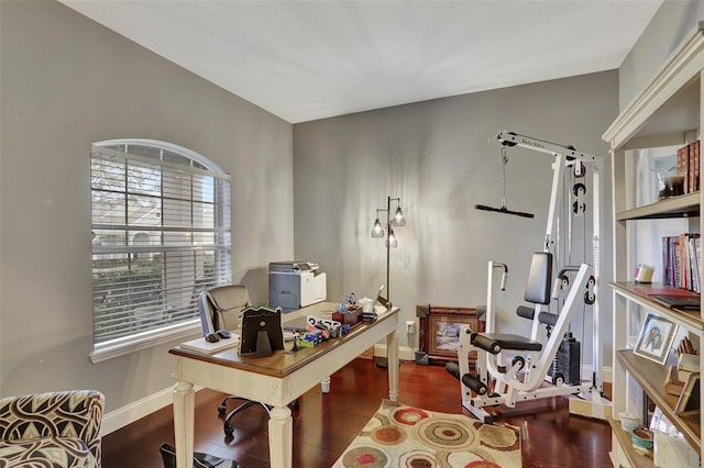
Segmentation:
[(662, 3), (618, 69), (619, 109), (624, 109), (642, 90), (702, 20), (702, 0), (666, 0)]

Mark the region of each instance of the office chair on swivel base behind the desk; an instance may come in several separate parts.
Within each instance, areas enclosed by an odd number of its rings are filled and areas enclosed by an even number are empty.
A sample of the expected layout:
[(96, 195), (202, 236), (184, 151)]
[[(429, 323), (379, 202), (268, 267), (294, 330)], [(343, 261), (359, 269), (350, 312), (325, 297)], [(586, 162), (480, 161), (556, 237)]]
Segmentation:
[[(244, 285), (218, 286), (202, 291), (198, 297), (198, 310), (204, 336), (238, 328), (240, 314), (249, 305), (250, 294)], [(228, 401), (240, 402), (224, 419), (223, 430), (228, 437), (232, 437), (233, 428), (230, 420), (235, 414), (257, 404), (266, 410), (267, 414), (271, 412), (265, 403), (231, 394), (226, 397), (218, 406), (219, 415), (223, 415), (228, 410)]]

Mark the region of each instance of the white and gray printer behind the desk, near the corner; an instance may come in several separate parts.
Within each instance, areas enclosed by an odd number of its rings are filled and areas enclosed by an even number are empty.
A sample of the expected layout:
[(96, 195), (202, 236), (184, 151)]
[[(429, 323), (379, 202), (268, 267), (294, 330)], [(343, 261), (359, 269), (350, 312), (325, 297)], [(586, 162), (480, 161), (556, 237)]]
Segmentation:
[(327, 276), (318, 264), (272, 261), (268, 264), (268, 305), (290, 312), (328, 299)]

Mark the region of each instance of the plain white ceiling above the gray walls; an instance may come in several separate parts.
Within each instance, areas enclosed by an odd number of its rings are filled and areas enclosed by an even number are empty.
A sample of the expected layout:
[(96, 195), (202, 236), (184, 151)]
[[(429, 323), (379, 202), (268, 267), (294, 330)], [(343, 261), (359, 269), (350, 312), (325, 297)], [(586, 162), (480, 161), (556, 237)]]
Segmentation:
[(290, 122), (618, 68), (662, 0), (61, 0)]

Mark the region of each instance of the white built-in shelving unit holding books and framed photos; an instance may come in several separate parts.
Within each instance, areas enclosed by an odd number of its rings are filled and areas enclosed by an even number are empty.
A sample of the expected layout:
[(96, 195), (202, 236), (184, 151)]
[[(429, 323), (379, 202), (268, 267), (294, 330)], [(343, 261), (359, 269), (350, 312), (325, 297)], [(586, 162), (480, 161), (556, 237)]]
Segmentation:
[[(666, 367), (644, 359), (632, 353), (629, 334), (640, 326), (644, 312), (667, 316), (686, 331), (702, 354), (704, 321), (702, 312), (679, 312), (667, 309), (640, 296), (635, 290), (634, 269), (638, 263), (634, 239), (638, 230), (648, 229), (638, 220), (656, 220), (657, 223), (683, 223), (690, 232), (702, 232), (702, 193), (659, 201), (644, 207), (632, 207), (634, 183), (629, 170), (632, 169), (632, 149), (684, 145), (702, 137), (704, 99), (704, 22), (670, 55), (659, 73), (630, 104), (618, 115), (604, 133), (604, 141), (610, 144), (613, 193), (614, 193), (614, 278), (613, 331), (614, 331), (614, 376), (613, 411), (617, 416), (622, 411), (641, 412), (637, 401), (642, 391), (662, 410), (684, 435), (690, 446), (702, 455), (704, 417), (696, 415), (681, 417), (674, 414), (676, 397), (663, 389)], [(700, 174), (704, 175), (700, 165)], [(679, 221), (672, 221), (672, 220)], [(660, 253), (652, 253), (656, 258)], [(659, 278), (658, 271), (656, 277)], [(702, 267), (700, 265), (700, 277)], [(630, 281), (630, 282), (629, 282)], [(632, 337), (632, 336), (631, 336)], [(676, 345), (676, 343), (675, 343)], [(700, 369), (704, 372), (704, 368)], [(704, 401), (701, 386), (700, 401)], [(640, 393), (640, 395), (638, 394)], [(652, 458), (638, 454), (632, 448), (630, 436), (620, 428), (620, 423), (612, 425), (612, 461), (614, 466), (652, 467)]]

